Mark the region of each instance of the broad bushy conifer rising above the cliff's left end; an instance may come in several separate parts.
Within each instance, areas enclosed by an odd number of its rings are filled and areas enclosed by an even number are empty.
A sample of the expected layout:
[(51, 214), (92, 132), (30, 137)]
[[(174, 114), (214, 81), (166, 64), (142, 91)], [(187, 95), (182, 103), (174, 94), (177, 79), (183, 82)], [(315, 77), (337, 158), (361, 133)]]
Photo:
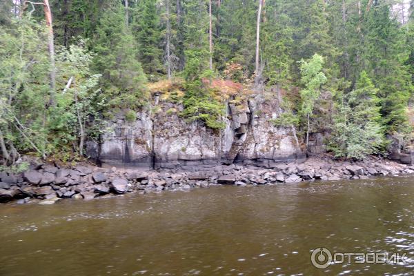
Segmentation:
[(102, 75), (103, 96), (110, 106), (135, 108), (144, 104), (146, 76), (137, 59), (137, 45), (126, 26), (124, 7), (112, 3), (101, 15), (92, 44), (93, 68)]

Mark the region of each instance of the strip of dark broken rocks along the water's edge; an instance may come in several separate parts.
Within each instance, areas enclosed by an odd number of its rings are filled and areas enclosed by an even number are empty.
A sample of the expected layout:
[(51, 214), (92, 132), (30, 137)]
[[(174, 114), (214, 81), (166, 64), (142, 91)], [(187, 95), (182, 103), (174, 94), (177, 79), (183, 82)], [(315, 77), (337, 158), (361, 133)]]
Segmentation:
[(414, 166), (375, 157), (352, 163), (313, 157), (301, 164), (281, 163), (272, 168), (231, 164), (198, 172), (99, 168), (86, 164), (63, 168), (38, 164), (20, 174), (0, 172), (0, 202), (53, 204), (60, 199), (90, 200), (133, 192), (161, 193), (217, 185), (281, 185), (411, 173), (414, 173)]

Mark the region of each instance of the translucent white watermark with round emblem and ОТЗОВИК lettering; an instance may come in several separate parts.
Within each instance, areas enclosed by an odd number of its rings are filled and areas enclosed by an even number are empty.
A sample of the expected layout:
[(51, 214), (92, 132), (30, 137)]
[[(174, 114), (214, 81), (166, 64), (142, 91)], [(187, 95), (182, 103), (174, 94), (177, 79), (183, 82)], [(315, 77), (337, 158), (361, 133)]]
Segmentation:
[(407, 253), (332, 253), (324, 247), (315, 248), (311, 262), (324, 269), (331, 264), (406, 264)]

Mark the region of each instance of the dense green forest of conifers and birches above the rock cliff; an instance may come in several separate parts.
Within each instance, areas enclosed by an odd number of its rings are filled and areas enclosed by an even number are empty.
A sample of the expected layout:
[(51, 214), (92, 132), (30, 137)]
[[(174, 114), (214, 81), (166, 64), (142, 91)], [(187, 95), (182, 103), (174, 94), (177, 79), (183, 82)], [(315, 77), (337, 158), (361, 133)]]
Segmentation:
[(106, 118), (168, 90), (221, 131), (226, 101), (273, 99), (273, 124), (335, 157), (411, 141), (414, 1), (0, 0), (0, 147), (85, 155)]

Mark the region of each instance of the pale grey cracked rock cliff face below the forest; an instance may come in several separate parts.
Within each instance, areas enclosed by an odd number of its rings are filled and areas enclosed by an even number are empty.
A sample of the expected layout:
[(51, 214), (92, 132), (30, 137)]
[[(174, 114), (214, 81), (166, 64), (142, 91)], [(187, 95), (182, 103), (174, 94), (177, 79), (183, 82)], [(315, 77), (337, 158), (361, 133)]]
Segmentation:
[(103, 166), (145, 169), (209, 170), (221, 164), (272, 168), (281, 161), (304, 161), (306, 153), (293, 128), (277, 128), (274, 103), (250, 98), (227, 104), (224, 130), (206, 128), (179, 116), (182, 106), (155, 98), (152, 108), (137, 111), (128, 122), (122, 114), (107, 122), (99, 143), (88, 154)]

